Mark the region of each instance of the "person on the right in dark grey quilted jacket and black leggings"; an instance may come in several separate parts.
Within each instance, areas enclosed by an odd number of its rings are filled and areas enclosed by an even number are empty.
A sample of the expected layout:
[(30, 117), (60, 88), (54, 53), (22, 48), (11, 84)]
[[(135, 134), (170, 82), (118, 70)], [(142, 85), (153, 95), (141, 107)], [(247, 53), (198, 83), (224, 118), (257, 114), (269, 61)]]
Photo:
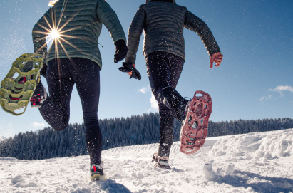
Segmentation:
[(210, 29), (185, 7), (178, 6), (175, 0), (147, 0), (139, 7), (128, 31), (125, 63), (134, 67), (140, 36), (145, 31), (143, 53), (160, 113), (160, 145), (154, 158), (156, 167), (170, 168), (168, 157), (173, 144), (174, 117), (185, 120), (188, 100), (175, 90), (185, 62), (183, 28), (200, 36), (210, 55), (210, 68), (214, 62), (220, 66), (223, 56)]

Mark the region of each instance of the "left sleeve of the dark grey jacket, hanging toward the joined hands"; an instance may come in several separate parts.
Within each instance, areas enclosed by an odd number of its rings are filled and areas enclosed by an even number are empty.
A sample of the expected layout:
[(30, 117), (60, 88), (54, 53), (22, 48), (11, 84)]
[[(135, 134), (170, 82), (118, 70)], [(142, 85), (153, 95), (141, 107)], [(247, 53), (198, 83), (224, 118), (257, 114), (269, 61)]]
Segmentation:
[(138, 45), (140, 42), (141, 33), (145, 28), (145, 10), (140, 6), (133, 18), (128, 30), (128, 53), (125, 58), (126, 63), (135, 63), (136, 53), (138, 52)]

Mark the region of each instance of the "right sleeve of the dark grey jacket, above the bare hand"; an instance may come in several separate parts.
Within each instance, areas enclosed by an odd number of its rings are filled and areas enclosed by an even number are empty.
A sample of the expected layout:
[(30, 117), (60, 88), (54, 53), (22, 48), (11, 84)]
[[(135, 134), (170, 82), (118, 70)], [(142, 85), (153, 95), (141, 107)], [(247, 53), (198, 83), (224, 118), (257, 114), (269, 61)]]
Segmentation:
[(221, 52), (207, 24), (190, 11), (186, 11), (185, 14), (185, 28), (195, 31), (200, 36), (210, 56), (214, 53)]

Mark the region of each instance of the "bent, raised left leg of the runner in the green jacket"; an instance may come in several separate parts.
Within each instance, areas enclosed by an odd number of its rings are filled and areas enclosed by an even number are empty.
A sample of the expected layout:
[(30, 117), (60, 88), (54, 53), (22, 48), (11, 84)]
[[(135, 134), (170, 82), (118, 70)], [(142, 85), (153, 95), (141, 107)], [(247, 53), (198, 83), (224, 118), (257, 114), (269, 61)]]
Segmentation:
[[(43, 119), (54, 130), (63, 130), (68, 126), (70, 99), (74, 82), (68, 73), (67, 58), (48, 62), (46, 80), (50, 96), (42, 103), (40, 110)], [(41, 83), (39, 83), (41, 86)]]

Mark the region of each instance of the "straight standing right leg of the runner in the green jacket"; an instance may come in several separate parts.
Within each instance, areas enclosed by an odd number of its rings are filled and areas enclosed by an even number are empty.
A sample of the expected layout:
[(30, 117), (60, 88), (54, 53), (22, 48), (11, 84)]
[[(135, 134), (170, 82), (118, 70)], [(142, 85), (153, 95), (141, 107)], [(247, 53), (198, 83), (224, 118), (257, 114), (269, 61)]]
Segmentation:
[(83, 106), (86, 145), (91, 157), (91, 165), (100, 165), (103, 145), (102, 134), (98, 125), (100, 68), (93, 61), (84, 58), (72, 58), (72, 61), (73, 79)]

